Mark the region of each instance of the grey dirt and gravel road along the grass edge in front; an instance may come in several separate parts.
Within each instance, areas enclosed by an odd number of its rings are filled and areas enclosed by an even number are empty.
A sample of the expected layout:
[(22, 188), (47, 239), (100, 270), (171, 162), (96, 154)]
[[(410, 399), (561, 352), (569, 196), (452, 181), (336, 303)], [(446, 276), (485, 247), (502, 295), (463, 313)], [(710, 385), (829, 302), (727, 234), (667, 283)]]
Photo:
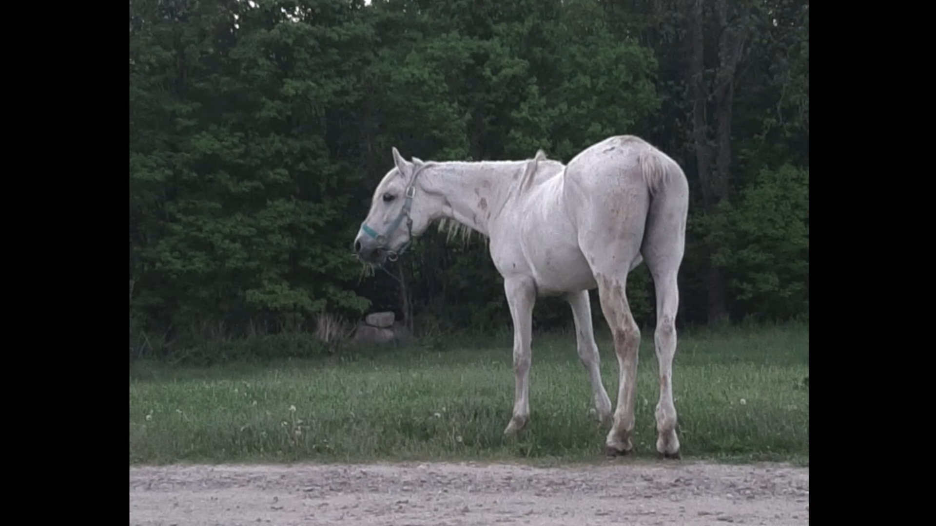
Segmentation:
[(809, 523), (809, 468), (686, 460), (130, 468), (130, 524)]

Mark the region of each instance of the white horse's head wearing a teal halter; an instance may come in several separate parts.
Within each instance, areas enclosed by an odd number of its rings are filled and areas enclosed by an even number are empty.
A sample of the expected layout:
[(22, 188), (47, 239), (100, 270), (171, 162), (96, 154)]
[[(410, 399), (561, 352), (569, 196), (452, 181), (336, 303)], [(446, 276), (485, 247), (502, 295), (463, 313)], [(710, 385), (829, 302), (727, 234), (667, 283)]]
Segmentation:
[(442, 197), (423, 192), (418, 184), (420, 173), (429, 164), (417, 157), (409, 162), (396, 148), (393, 163), (396, 167), (377, 185), (371, 211), (354, 241), (354, 251), (365, 263), (382, 265), (388, 259), (396, 260), (426, 231), (444, 204)]

